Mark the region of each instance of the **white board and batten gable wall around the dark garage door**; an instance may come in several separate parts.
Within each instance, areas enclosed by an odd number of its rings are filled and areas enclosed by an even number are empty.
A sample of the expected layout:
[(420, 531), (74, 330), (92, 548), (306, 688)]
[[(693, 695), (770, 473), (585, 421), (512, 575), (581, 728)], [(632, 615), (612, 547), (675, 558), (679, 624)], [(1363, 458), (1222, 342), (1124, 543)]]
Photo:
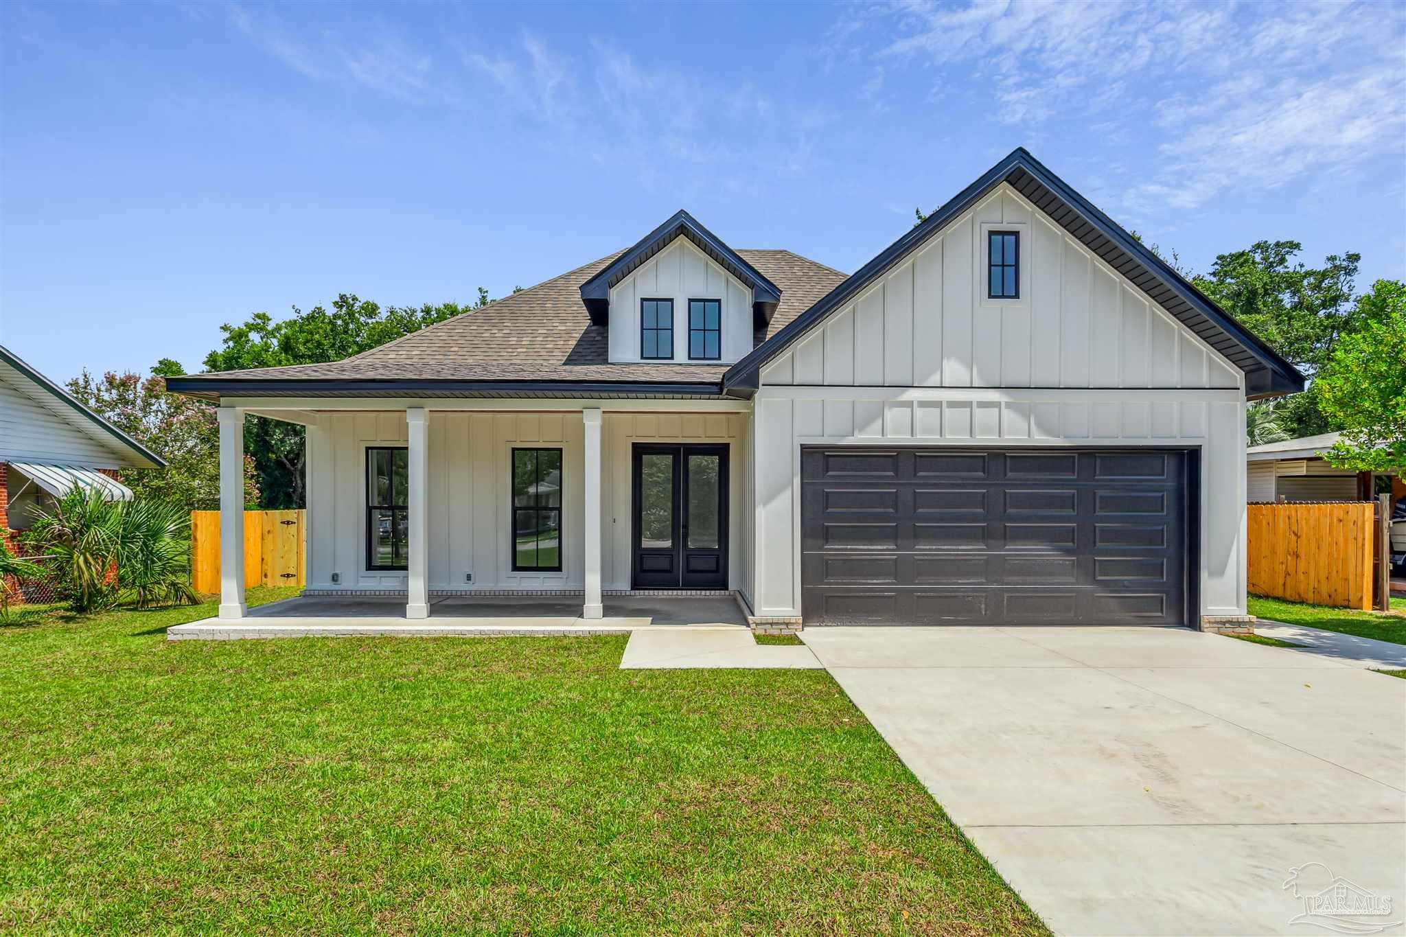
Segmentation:
[[(1019, 301), (986, 232), (1021, 232)], [(1201, 601), (1244, 612), (1244, 389), (1225, 361), (1000, 187), (769, 362), (755, 399), (759, 615), (800, 610), (800, 447), (1199, 448)]]

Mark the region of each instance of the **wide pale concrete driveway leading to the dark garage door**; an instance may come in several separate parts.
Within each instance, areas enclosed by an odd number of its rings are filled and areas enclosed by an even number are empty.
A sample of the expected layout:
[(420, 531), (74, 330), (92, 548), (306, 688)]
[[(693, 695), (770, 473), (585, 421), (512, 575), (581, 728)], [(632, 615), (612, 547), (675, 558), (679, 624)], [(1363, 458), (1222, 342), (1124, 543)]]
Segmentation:
[(1185, 629), (803, 639), (1057, 933), (1406, 933), (1406, 680)]

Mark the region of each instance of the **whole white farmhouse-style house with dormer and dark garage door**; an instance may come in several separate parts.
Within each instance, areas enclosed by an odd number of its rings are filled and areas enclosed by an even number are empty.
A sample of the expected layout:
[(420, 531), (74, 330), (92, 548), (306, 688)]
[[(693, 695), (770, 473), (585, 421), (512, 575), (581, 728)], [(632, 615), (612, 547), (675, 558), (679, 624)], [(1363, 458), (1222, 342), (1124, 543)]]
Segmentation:
[[(835, 223), (844, 223), (837, 219)], [(315, 593), (734, 590), (768, 624), (1243, 615), (1246, 400), (1303, 376), (1024, 149), (844, 275), (686, 212), (333, 364), (172, 378), (308, 430)]]

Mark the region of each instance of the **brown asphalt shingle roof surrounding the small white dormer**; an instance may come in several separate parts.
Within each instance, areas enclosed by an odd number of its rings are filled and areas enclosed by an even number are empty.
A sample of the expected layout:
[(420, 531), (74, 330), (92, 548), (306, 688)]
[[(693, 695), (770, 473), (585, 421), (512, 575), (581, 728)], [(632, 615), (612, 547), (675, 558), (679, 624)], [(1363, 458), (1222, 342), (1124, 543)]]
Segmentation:
[[(782, 301), (754, 347), (779, 332), (845, 280), (845, 274), (789, 250), (738, 250), (782, 289)], [(602, 257), (503, 296), (482, 309), (413, 332), (343, 361), (221, 371), (191, 378), (252, 379), (444, 379), (710, 382), (728, 365), (610, 364), (606, 327), (591, 325), (581, 284), (620, 253)]]

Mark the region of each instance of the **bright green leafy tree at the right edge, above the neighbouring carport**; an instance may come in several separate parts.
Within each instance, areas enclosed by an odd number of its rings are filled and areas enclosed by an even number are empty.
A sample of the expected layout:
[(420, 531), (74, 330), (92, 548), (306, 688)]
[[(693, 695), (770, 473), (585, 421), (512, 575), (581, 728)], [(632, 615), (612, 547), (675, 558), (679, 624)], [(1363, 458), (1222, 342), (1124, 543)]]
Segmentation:
[(1313, 382), (1343, 438), (1327, 459), (1358, 472), (1406, 468), (1406, 287), (1378, 280), (1358, 296), (1360, 325), (1343, 336)]

